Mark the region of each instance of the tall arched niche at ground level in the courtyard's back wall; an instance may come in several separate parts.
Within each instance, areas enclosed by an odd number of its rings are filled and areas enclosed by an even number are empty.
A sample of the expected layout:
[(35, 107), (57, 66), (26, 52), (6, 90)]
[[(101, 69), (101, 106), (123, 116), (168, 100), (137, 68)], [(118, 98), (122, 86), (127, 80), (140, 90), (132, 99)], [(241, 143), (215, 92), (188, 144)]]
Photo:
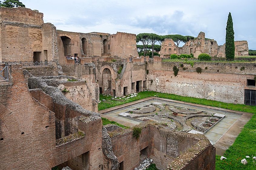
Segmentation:
[(111, 71), (108, 68), (105, 68), (102, 72), (102, 93), (110, 94), (111, 93), (111, 85), (112, 85), (112, 76)]

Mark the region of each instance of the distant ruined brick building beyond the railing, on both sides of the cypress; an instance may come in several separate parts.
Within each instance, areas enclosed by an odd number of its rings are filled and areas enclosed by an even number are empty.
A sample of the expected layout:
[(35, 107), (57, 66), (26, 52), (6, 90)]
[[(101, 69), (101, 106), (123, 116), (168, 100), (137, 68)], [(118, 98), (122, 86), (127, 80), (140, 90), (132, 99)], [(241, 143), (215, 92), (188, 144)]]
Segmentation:
[[(247, 41), (235, 41), (235, 56), (248, 56)], [(197, 38), (187, 41), (183, 47), (178, 47), (170, 38), (165, 38), (161, 44), (160, 57), (169, 57), (170, 54), (199, 54), (206, 53), (211, 57), (225, 57), (225, 44), (218, 45), (213, 39), (205, 39), (205, 33), (200, 32)]]

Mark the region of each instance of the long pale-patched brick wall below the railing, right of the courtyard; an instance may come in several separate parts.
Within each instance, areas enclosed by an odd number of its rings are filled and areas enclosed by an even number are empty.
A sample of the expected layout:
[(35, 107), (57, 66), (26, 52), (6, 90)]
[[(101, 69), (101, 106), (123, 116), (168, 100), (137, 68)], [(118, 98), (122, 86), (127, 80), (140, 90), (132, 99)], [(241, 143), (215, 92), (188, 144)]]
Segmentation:
[[(176, 77), (174, 66), (179, 67)], [(252, 63), (194, 63), (193, 67), (189, 64), (184, 67), (185, 71), (180, 63), (150, 62), (149, 90), (240, 104), (244, 103), (244, 89), (256, 90), (247, 86), (247, 79), (256, 74)], [(202, 68), (201, 74), (196, 72), (197, 67)], [(241, 71), (241, 67), (245, 69)]]

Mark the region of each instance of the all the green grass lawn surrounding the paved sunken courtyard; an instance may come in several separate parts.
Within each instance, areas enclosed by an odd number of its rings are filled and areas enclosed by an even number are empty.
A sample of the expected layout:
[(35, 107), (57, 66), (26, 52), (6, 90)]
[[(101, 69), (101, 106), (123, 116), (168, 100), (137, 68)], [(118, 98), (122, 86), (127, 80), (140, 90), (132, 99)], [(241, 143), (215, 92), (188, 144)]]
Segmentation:
[[(111, 96), (107, 97), (104, 95), (100, 95), (101, 103), (98, 104), (98, 110), (107, 109), (113, 106), (118, 106), (124, 103), (129, 103), (132, 101), (140, 100), (140, 99), (150, 97), (150, 96), (155, 96), (155, 95), (165, 99), (179, 100), (179, 101), (184, 101), (189, 103), (202, 104), (206, 106), (214, 106), (214, 107), (220, 107), (224, 109), (256, 113), (256, 106), (224, 103), (224, 102), (218, 102), (214, 100), (198, 99), (194, 97), (178, 96), (174, 94), (158, 93), (153, 91), (140, 92), (136, 97), (133, 97), (127, 100), (124, 98), (122, 99), (117, 98), (115, 100), (112, 100)], [(102, 99), (105, 99), (106, 101), (102, 101)], [(109, 122), (112, 122), (112, 121), (109, 121)], [(115, 122), (111, 124), (115, 124)], [(118, 126), (120, 126), (120, 124)], [(227, 159), (221, 161), (220, 160), (221, 156), (216, 155), (216, 170), (256, 169), (256, 162), (253, 162), (251, 158), (246, 159), (248, 161), (247, 165), (241, 164), (241, 159), (244, 159), (246, 155), (250, 157), (251, 155), (256, 156), (256, 114), (253, 115), (251, 120), (244, 126), (241, 133), (236, 138), (234, 144), (224, 153), (223, 156), (226, 157)]]

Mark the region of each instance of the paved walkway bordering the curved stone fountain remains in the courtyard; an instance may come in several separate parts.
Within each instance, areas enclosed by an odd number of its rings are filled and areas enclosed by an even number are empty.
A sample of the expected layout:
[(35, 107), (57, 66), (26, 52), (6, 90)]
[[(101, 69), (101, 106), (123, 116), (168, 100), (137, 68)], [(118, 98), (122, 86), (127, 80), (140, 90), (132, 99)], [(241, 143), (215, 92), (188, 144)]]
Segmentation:
[(195, 110), (226, 115), (224, 119), (222, 119), (220, 122), (218, 122), (208, 132), (205, 132), (204, 134), (205, 136), (207, 136), (211, 144), (213, 144), (216, 147), (217, 155), (222, 155), (225, 152), (225, 150), (228, 149), (228, 147), (234, 143), (234, 140), (241, 132), (241, 129), (244, 126), (244, 124), (246, 124), (253, 115), (252, 113), (222, 109), (218, 107), (205, 106), (157, 97), (148, 97), (134, 102), (125, 103), (124, 105), (119, 105), (105, 110), (101, 110), (98, 113), (103, 114), (102, 117), (105, 117), (111, 121), (115, 121), (125, 126), (132, 127), (140, 124), (141, 122), (136, 119), (130, 119), (127, 117), (120, 116), (118, 114), (154, 102), (161, 102), (172, 106), (187, 107)]

